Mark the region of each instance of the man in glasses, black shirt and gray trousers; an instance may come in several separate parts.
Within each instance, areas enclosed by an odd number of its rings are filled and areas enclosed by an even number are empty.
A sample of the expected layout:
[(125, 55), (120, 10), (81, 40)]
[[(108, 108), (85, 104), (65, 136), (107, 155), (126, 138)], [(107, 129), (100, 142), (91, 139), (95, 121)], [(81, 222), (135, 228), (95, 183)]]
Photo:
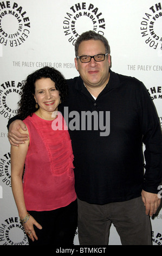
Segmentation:
[[(60, 111), (68, 106), (71, 113), (80, 245), (107, 245), (111, 223), (122, 245), (151, 245), (149, 215), (160, 205), (162, 144), (153, 102), (141, 82), (111, 71), (109, 45), (103, 36), (83, 33), (75, 54), (80, 76), (67, 81), (69, 97)], [(72, 127), (74, 111), (79, 119)], [(89, 119), (82, 119), (85, 113), (94, 120), (91, 129)], [(12, 144), (24, 140), (18, 133), (20, 126), (24, 127), (19, 120), (10, 127)]]

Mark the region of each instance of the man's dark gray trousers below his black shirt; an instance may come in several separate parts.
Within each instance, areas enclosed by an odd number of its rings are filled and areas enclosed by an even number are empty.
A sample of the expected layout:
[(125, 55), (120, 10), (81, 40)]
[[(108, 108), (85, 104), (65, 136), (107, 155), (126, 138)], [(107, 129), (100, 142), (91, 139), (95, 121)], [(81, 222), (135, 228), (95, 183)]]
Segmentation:
[(80, 245), (108, 245), (113, 223), (122, 245), (152, 245), (150, 217), (141, 197), (105, 205), (88, 204), (77, 198)]

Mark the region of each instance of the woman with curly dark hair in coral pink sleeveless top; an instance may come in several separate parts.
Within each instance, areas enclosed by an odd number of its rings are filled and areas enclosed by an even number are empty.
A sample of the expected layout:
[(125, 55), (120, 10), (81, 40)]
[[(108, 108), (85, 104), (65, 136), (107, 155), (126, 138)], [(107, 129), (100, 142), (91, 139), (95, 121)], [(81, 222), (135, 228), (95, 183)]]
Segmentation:
[(18, 113), (29, 140), (11, 145), (11, 185), (29, 245), (73, 245), (77, 204), (72, 145), (67, 127), (52, 129), (58, 118), (64, 124), (57, 109), (67, 93), (66, 80), (49, 67), (29, 75), (23, 85)]

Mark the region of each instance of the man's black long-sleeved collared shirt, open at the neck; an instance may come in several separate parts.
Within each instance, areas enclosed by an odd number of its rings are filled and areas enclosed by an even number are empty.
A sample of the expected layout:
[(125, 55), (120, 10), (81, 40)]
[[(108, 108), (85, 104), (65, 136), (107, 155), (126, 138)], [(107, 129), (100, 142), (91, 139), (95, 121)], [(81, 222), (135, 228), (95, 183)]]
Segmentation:
[[(137, 79), (110, 73), (96, 100), (81, 77), (67, 80), (69, 97), (60, 108), (72, 139), (77, 197), (95, 204), (133, 199), (142, 189), (157, 193), (161, 181), (161, 129), (153, 101)], [(98, 114), (99, 129), (96, 116), (90, 129), (85, 113)]]

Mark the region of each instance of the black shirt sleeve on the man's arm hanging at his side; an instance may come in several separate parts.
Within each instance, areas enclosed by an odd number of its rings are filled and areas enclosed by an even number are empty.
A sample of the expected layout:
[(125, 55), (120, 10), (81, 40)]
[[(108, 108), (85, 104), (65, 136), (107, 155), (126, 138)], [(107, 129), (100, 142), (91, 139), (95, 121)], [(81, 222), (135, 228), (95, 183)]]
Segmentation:
[(145, 144), (145, 174), (143, 189), (158, 193), (162, 179), (162, 137), (157, 110), (146, 87), (141, 84), (139, 111), (142, 142)]

